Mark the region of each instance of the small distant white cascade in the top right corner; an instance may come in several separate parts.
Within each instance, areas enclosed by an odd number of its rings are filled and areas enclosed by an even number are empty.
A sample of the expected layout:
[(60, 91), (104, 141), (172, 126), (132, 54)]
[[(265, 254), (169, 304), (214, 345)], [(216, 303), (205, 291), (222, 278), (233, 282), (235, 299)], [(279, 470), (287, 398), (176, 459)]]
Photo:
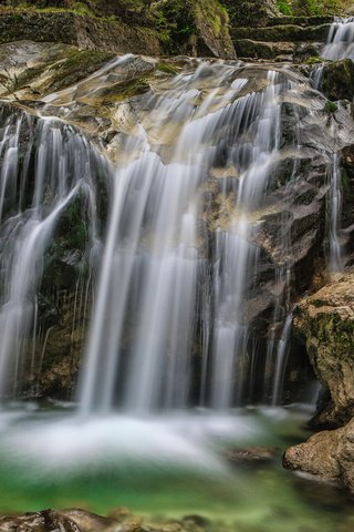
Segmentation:
[(331, 25), (327, 43), (321, 55), (324, 59), (336, 61), (339, 59), (354, 60), (354, 18), (335, 18)]

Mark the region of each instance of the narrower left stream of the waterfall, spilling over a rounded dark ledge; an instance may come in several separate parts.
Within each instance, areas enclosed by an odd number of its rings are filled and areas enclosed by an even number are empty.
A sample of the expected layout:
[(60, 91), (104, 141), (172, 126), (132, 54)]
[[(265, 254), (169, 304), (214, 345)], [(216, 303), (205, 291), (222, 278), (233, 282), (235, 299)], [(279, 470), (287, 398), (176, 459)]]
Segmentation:
[[(56, 119), (8, 113), (2, 122), (0, 391), (19, 397), (24, 382), (35, 380), (51, 334), (46, 327), (41, 338), (45, 301), (40, 287), (53, 259), (46, 252), (53, 252), (55, 242), (60, 246), (55, 232), (63, 217), (70, 222), (70, 209), (80, 204), (86, 231), (82, 255), (79, 259), (71, 250), (61, 259), (77, 263), (79, 270), (94, 259), (98, 242), (94, 174), (98, 168), (103, 173), (106, 163), (81, 133)], [(69, 225), (66, 231), (80, 227)]]

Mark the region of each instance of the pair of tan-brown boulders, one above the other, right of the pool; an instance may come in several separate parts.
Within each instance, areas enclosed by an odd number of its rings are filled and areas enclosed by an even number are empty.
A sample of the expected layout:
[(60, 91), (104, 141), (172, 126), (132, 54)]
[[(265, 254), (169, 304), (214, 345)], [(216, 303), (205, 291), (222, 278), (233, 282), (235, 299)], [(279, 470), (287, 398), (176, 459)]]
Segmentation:
[(283, 464), (354, 493), (354, 274), (337, 274), (305, 298), (296, 307), (294, 329), (327, 390), (312, 424), (341, 428), (319, 432), (305, 443), (291, 447)]

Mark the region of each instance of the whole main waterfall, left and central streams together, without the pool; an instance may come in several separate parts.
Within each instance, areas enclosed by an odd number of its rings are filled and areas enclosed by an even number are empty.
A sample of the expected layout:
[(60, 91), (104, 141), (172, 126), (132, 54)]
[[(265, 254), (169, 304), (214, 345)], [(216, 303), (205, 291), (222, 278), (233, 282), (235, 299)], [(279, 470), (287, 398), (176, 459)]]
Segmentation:
[[(108, 84), (105, 73), (81, 90)], [(93, 306), (82, 415), (280, 401), (296, 275), (292, 221), (299, 191), (312, 186), (300, 184), (308, 92), (287, 68), (198, 61), (142, 98), (114, 171), (61, 120), (2, 117), (2, 396), (35, 395), (54, 330), (43, 325), (42, 285), (59, 254), (75, 269), (70, 293), (53, 298), (71, 305), (72, 342)], [(65, 115), (72, 93), (48, 96), (44, 111), (58, 104)], [(83, 242), (63, 244), (63, 227)]]

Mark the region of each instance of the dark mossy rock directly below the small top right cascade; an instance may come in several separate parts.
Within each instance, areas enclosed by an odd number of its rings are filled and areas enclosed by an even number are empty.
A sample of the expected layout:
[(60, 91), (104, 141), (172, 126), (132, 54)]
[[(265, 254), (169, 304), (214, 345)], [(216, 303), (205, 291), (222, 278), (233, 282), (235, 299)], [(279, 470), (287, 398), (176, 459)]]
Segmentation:
[(354, 98), (354, 63), (350, 59), (333, 61), (322, 66), (320, 90), (332, 101)]

